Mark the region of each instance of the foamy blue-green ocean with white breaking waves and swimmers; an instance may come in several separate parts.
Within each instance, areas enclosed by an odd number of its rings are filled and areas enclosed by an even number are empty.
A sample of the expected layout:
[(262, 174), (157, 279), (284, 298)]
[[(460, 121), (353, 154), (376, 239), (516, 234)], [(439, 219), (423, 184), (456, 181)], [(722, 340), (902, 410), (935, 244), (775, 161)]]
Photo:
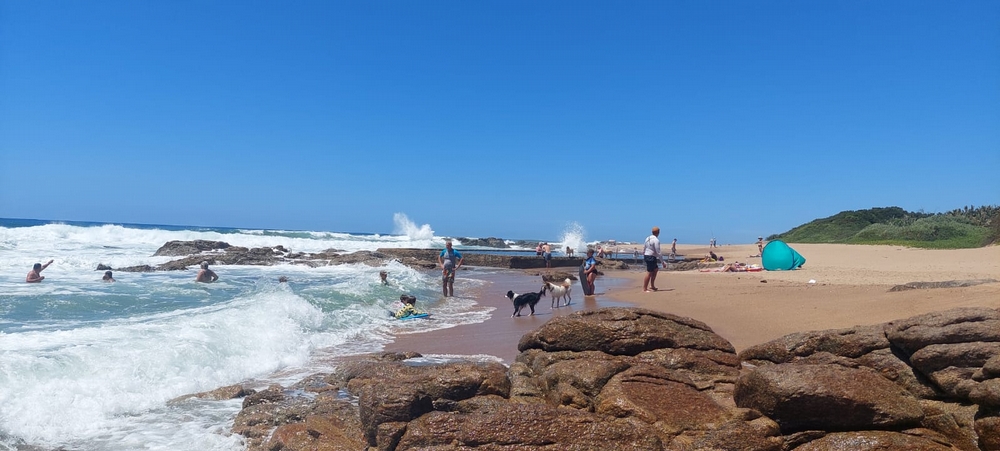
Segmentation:
[[(378, 352), (399, 333), (485, 321), (492, 308), (471, 293), (486, 282), (460, 277), (456, 296), (443, 298), (439, 273), (396, 262), (220, 265), (212, 284), (194, 281), (197, 268), (115, 271), (115, 283), (96, 270), (176, 259), (153, 257), (172, 240), (292, 252), (443, 248), (428, 225), (394, 221), (398, 233), (382, 235), (0, 219), (0, 450), (241, 450), (229, 429), (242, 400), (178, 398), (288, 385), (330, 371), (337, 357)], [(573, 225), (552, 244), (581, 249), (582, 238)], [(34, 263), (50, 259), (44, 281), (25, 283)], [(433, 320), (390, 318), (403, 293)]]

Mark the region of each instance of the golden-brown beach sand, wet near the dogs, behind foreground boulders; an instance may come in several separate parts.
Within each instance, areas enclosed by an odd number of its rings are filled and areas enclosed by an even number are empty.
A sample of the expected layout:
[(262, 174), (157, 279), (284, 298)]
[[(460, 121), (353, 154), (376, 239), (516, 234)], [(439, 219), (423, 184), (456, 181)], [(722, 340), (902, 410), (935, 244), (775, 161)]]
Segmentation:
[[(643, 265), (605, 270), (595, 296), (573, 286), (573, 303), (550, 308), (545, 297), (533, 317), (510, 318), (509, 289), (525, 292), (541, 285), (545, 270), (507, 271), (482, 277), (489, 281), (473, 295), (496, 307), (484, 323), (426, 333), (400, 335), (390, 351), (422, 354), (493, 355), (510, 364), (525, 333), (574, 311), (635, 306), (694, 318), (729, 340), (737, 351), (784, 335), (811, 330), (878, 324), (955, 307), (1000, 308), (1000, 283), (972, 287), (889, 292), (909, 282), (1000, 280), (1000, 246), (980, 249), (925, 250), (898, 246), (792, 244), (806, 258), (794, 271), (718, 273), (660, 271), (660, 291), (645, 293)], [(678, 245), (685, 256), (708, 254), (707, 246)], [(760, 264), (755, 244), (714, 249), (726, 262)], [(570, 269), (570, 268), (567, 268)], [(562, 269), (560, 269), (562, 270)], [(575, 271), (575, 270), (574, 270)], [(476, 271), (460, 276), (477, 277)], [(814, 283), (810, 283), (814, 281)], [(461, 295), (459, 293), (459, 295)], [(526, 313), (522, 313), (526, 314)]]

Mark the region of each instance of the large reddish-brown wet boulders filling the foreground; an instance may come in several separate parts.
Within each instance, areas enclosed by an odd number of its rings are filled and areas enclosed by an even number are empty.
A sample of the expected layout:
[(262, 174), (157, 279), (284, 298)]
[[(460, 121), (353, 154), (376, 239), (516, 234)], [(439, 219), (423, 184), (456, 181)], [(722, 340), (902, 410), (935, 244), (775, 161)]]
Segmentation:
[(994, 451), (998, 320), (956, 309), (737, 355), (694, 319), (580, 311), (510, 367), (361, 356), (248, 396), (233, 430), (251, 450)]

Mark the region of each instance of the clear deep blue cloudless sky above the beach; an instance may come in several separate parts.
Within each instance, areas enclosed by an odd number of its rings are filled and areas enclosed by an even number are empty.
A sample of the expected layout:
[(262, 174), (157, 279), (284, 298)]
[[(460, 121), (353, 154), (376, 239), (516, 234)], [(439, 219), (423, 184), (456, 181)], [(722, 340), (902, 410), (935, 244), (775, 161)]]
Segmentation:
[(0, 217), (748, 243), (998, 204), (998, 24), (996, 1), (0, 0)]

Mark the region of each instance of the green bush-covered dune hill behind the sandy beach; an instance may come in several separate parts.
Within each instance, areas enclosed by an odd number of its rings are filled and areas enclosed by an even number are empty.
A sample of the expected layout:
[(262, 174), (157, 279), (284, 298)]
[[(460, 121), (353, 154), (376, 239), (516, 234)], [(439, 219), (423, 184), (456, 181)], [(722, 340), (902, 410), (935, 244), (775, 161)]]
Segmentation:
[(767, 239), (931, 249), (981, 247), (1000, 241), (1000, 207), (965, 207), (936, 214), (908, 212), (899, 207), (842, 211)]

